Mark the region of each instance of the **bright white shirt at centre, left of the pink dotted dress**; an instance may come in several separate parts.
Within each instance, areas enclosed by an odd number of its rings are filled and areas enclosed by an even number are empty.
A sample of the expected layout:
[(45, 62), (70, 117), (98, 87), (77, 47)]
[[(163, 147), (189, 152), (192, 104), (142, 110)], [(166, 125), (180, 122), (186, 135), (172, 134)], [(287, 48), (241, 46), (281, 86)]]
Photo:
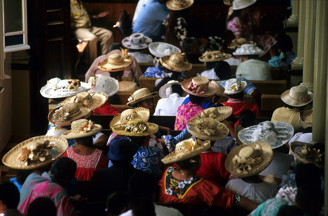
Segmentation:
[(159, 99), (155, 108), (154, 115), (176, 115), (176, 111), (181, 105), (184, 97), (178, 93), (172, 93), (168, 98)]

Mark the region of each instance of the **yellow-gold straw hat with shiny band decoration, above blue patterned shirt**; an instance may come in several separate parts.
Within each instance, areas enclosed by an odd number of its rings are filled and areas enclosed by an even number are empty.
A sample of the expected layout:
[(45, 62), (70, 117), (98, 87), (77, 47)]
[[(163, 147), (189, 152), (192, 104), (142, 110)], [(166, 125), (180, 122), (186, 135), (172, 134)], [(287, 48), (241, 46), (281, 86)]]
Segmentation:
[(131, 119), (126, 124), (111, 127), (114, 133), (125, 136), (148, 136), (158, 131), (158, 125), (145, 123), (141, 119)]

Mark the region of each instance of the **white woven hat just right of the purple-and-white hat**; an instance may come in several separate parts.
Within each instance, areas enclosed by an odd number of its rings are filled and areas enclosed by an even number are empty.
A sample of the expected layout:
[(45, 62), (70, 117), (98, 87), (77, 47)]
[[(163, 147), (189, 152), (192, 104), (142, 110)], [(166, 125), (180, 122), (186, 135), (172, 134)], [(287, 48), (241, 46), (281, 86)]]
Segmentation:
[(181, 53), (176, 46), (164, 42), (153, 42), (148, 46), (149, 52), (156, 57), (171, 56), (174, 53)]

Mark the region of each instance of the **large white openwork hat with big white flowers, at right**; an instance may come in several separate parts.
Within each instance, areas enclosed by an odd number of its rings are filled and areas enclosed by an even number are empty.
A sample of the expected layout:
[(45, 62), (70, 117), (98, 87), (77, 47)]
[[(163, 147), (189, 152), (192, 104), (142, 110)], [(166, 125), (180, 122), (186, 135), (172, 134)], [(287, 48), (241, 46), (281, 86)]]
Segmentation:
[(269, 143), (273, 149), (284, 145), (293, 135), (294, 128), (290, 124), (271, 121), (261, 122), (238, 133), (240, 141), (244, 144), (263, 141)]

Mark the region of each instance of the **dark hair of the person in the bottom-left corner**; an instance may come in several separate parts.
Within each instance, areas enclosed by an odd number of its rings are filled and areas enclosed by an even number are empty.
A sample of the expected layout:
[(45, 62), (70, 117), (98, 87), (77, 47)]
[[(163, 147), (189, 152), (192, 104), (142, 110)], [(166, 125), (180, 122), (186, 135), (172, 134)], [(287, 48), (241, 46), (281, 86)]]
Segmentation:
[(0, 184), (0, 200), (2, 200), (8, 208), (17, 208), (19, 196), (19, 190), (14, 183), (4, 182)]

